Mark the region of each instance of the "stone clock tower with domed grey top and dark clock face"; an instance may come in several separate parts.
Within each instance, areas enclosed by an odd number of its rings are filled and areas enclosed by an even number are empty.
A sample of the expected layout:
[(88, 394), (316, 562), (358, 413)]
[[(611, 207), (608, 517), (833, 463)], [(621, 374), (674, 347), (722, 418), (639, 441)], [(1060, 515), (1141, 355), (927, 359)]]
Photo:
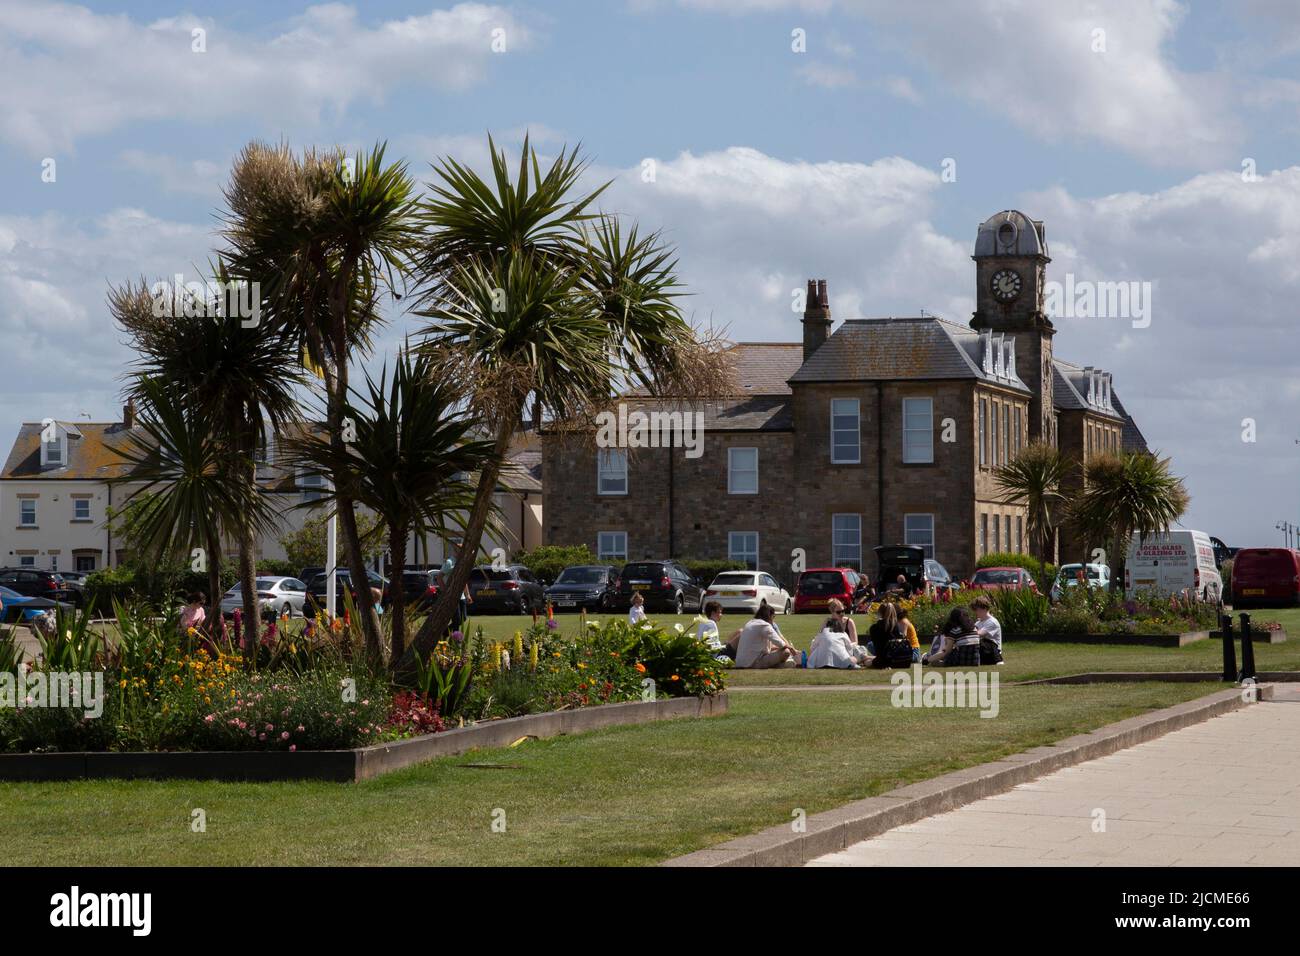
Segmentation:
[(1017, 372), (1034, 390), (1030, 441), (1054, 444), (1052, 337), (1043, 310), (1048, 243), (1043, 222), (1017, 209), (987, 219), (975, 234), (975, 315), (971, 328), (1015, 338)]

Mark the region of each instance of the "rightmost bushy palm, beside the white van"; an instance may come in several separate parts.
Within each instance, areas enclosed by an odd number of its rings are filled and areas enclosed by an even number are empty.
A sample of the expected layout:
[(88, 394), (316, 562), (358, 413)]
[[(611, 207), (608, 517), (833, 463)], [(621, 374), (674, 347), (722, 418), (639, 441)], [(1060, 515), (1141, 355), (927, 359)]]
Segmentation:
[(1123, 587), (1128, 541), (1169, 531), (1191, 502), (1169, 459), (1147, 451), (1121, 451), (1091, 459), (1084, 489), (1071, 502), (1070, 522), (1083, 538), (1102, 544), (1115, 566), (1112, 588)]

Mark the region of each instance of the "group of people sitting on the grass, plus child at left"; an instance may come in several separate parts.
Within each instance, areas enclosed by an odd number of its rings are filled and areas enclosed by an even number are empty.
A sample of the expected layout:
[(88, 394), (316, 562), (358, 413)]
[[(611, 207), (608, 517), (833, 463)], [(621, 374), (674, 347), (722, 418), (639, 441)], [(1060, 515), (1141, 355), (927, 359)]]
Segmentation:
[[(980, 594), (968, 609), (953, 607), (948, 619), (936, 628), (930, 650), (922, 653), (920, 637), (909, 619), (907, 610), (893, 601), (876, 606), (876, 620), (864, 635), (858, 633), (844, 604), (836, 598), (827, 602), (829, 617), (803, 653), (781, 633), (776, 624), (776, 609), (766, 601), (759, 604), (754, 617), (723, 640), (719, 622), (722, 605), (708, 601), (703, 619), (696, 628), (696, 637), (708, 644), (719, 657), (734, 662), (736, 667), (751, 670), (768, 667), (910, 667), (924, 663), (941, 667), (975, 667), (1002, 663), (1002, 626), (993, 617), (992, 602)], [(628, 622), (645, 620), (645, 602), (633, 596)]]

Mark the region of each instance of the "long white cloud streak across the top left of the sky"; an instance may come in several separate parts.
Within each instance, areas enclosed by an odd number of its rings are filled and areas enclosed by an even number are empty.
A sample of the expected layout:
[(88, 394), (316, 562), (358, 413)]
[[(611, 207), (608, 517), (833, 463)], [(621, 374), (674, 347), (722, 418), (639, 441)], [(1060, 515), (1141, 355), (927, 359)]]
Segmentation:
[[(207, 52), (192, 52), (192, 29), (207, 31)], [(491, 49), (498, 29), (506, 53)], [(309, 7), (264, 38), (190, 16), (143, 25), (84, 7), (3, 0), (0, 139), (49, 155), (142, 121), (315, 120), (381, 103), (399, 83), (464, 90), (494, 56), (532, 42), (515, 14), (473, 3), (373, 25), (352, 7)]]

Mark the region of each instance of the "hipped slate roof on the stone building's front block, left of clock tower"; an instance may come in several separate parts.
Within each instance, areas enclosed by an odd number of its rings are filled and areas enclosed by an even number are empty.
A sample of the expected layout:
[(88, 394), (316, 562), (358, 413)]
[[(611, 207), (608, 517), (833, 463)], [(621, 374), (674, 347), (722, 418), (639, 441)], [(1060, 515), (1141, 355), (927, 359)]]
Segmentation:
[(849, 319), (790, 382), (979, 378), (1028, 392), (983, 371), (980, 333), (935, 316)]

